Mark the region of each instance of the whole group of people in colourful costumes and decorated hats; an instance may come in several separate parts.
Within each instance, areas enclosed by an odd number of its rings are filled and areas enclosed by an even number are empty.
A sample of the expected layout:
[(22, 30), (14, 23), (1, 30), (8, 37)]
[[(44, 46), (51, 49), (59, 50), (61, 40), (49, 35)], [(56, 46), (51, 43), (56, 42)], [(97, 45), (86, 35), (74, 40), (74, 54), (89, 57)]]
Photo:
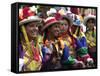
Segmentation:
[(96, 67), (95, 15), (81, 21), (76, 14), (52, 8), (54, 13), (48, 11), (44, 19), (36, 10), (35, 6), (19, 9), (19, 71)]

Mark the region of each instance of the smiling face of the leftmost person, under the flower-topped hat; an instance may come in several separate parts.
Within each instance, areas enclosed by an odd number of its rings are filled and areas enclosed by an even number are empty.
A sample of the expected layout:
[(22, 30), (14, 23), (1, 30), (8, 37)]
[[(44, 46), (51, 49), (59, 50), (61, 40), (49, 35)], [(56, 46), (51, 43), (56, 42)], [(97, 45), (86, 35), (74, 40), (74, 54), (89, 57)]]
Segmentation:
[(31, 22), (28, 25), (26, 25), (26, 32), (28, 37), (34, 38), (38, 35), (38, 23), (37, 22)]

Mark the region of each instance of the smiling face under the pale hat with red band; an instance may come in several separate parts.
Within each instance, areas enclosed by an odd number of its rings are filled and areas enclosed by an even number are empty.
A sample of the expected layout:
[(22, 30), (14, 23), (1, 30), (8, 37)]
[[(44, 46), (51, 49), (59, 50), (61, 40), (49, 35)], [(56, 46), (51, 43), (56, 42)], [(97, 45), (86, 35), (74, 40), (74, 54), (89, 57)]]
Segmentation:
[(55, 23), (55, 24), (51, 25), (49, 31), (51, 32), (51, 34), (54, 37), (58, 37), (59, 33), (60, 33), (60, 24), (59, 23)]

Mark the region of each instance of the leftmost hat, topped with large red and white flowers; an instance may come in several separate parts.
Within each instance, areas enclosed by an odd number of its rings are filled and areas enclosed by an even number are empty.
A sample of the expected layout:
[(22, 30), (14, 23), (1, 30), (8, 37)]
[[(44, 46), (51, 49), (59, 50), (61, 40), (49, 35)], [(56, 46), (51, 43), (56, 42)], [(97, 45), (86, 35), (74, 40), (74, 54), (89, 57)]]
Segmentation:
[(25, 23), (29, 23), (32, 21), (42, 21), (41, 18), (36, 16), (36, 8), (35, 7), (24, 7), (23, 9), (19, 9), (19, 25), (23, 25)]

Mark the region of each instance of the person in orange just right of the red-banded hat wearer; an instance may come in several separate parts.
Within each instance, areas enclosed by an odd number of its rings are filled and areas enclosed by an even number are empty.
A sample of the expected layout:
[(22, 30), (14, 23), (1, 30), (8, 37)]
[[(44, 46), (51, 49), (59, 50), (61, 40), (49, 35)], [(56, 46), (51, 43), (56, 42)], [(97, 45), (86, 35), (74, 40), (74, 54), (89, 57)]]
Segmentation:
[[(61, 32), (59, 37), (62, 38), (64, 43), (68, 46), (69, 48), (69, 59), (68, 63), (65, 62), (65, 64), (62, 64), (63, 68), (83, 68), (84, 64), (82, 61), (78, 61), (76, 59), (76, 53), (75, 53), (75, 45), (74, 45), (74, 39), (71, 36), (71, 26), (72, 26), (72, 19), (67, 15), (63, 15), (61, 19)], [(63, 61), (62, 61), (63, 62)]]

